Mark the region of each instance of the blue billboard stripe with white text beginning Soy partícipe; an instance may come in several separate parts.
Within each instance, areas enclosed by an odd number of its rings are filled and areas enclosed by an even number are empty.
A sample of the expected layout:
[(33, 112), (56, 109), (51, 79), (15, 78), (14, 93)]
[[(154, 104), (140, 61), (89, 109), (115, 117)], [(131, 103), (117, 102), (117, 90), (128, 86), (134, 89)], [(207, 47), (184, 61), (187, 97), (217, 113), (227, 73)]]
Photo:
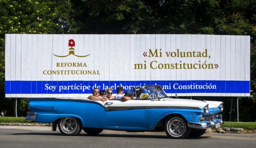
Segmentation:
[(91, 94), (93, 88), (124, 90), (143, 85), (160, 85), (166, 93), (250, 93), (250, 81), (174, 80), (174, 81), (5, 81), (6, 94)]

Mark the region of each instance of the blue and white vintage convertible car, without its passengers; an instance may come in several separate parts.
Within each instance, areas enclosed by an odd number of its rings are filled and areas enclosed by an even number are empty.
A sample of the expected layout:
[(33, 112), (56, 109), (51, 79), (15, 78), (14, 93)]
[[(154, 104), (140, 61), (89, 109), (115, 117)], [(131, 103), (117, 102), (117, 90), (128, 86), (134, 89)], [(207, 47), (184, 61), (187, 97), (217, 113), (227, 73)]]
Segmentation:
[(178, 99), (167, 96), (159, 85), (133, 88), (131, 100), (105, 102), (87, 98), (29, 98), (26, 119), (53, 123), (63, 135), (99, 134), (103, 129), (165, 131), (170, 138), (201, 136), (223, 124), (223, 102)]

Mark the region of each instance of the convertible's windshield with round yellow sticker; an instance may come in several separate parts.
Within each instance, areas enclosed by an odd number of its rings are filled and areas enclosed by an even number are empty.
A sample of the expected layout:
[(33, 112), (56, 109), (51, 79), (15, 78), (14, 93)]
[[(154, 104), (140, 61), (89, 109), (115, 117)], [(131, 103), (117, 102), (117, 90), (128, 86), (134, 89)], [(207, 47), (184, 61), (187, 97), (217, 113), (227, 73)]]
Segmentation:
[(160, 86), (145, 86), (142, 89), (140, 99), (156, 99), (156, 97), (168, 97)]

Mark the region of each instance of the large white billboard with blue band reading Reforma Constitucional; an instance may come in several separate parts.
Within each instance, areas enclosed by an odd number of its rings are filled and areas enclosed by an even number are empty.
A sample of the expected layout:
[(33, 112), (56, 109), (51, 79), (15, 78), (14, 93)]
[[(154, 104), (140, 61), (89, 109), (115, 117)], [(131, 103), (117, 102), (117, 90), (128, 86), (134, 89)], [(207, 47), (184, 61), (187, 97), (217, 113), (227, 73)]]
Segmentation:
[(5, 34), (5, 97), (149, 84), (170, 96), (250, 96), (250, 36)]

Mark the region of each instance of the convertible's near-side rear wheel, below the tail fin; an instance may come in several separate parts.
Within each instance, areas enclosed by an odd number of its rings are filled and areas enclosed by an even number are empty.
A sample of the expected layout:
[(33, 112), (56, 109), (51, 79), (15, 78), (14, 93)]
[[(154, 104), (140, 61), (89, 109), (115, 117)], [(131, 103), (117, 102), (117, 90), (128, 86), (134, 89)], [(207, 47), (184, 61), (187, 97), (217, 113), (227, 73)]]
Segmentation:
[(59, 120), (59, 131), (65, 136), (78, 135), (82, 130), (82, 125), (79, 119), (73, 117), (61, 118)]

